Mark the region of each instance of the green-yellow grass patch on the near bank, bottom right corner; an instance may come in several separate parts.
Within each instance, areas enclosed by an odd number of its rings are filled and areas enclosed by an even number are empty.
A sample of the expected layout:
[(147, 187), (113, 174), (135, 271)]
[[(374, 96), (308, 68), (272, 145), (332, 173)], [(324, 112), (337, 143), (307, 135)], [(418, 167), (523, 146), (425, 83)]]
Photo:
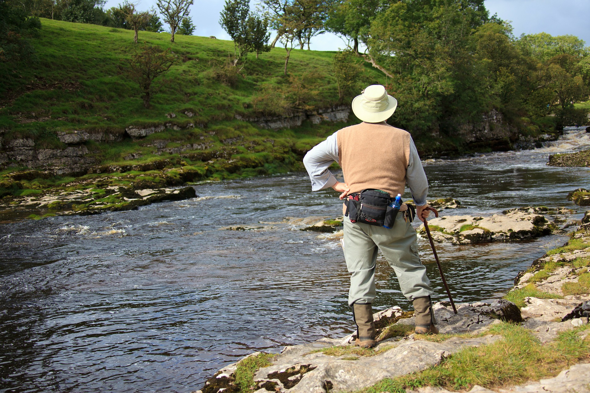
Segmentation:
[(499, 323), (490, 328), (490, 333), (503, 336), (497, 342), (463, 349), (438, 366), (386, 378), (360, 392), (404, 393), (425, 386), (467, 391), (474, 385), (491, 389), (538, 381), (590, 359), (590, 340), (576, 334), (588, 329), (588, 325), (578, 327), (560, 333), (554, 342), (542, 344), (523, 327)]

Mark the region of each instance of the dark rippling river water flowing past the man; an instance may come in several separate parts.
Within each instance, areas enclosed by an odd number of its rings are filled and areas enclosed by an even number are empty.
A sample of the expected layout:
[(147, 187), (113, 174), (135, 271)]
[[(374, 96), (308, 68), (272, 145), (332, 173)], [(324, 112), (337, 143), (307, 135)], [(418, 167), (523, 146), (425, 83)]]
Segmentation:
[[(571, 129), (542, 149), (428, 161), (429, 196), (466, 206), (444, 214), (546, 205), (581, 218), (566, 195), (589, 185), (590, 170), (545, 163), (589, 148), (584, 130)], [(335, 192), (310, 194), (304, 173), (195, 188), (199, 198), (137, 211), (0, 224), (0, 392), (190, 392), (254, 350), (352, 332), (337, 240), (289, 224), (219, 230), (336, 217)], [(455, 300), (469, 302), (501, 296), (565, 238), (441, 244), (438, 254)], [(443, 300), (428, 241), (419, 243)], [(382, 258), (377, 286), (376, 309), (409, 309)]]

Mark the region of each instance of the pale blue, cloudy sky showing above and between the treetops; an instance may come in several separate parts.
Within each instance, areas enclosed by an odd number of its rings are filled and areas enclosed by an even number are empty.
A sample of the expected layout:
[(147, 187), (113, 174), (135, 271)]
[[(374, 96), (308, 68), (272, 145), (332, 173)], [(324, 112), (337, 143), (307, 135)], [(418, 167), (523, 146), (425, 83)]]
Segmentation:
[[(117, 6), (122, 0), (107, 0), (105, 9)], [(513, 34), (534, 34), (546, 32), (551, 35), (576, 35), (590, 46), (590, 0), (485, 0), (490, 15), (511, 21)], [(195, 35), (220, 40), (230, 40), (230, 36), (219, 25), (219, 12), (225, 0), (195, 0), (191, 7), (191, 17), (196, 25)], [(256, 0), (251, 3), (255, 9)], [(140, 0), (137, 9), (147, 10), (156, 5), (156, 0)], [(271, 40), (274, 36), (271, 37)], [(332, 33), (312, 38), (312, 50), (336, 51), (345, 48), (346, 42)]]

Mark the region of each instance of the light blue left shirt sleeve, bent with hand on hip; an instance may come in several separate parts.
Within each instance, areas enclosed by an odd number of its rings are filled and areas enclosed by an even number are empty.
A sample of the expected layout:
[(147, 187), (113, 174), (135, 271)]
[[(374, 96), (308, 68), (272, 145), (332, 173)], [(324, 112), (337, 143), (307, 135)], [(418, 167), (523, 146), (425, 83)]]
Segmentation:
[(314, 146), (303, 158), (303, 165), (312, 179), (312, 191), (328, 188), (336, 184), (336, 178), (329, 171), (333, 162), (338, 162), (338, 142), (336, 131), (326, 140)]

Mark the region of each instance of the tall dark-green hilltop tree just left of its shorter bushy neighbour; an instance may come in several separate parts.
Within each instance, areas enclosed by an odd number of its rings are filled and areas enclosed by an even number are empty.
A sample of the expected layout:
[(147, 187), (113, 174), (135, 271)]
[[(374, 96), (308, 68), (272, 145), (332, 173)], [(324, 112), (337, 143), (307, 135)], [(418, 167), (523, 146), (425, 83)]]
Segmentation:
[(219, 24), (234, 41), (234, 66), (250, 49), (247, 38), (249, 14), (249, 0), (225, 0), (224, 9), (219, 14)]

